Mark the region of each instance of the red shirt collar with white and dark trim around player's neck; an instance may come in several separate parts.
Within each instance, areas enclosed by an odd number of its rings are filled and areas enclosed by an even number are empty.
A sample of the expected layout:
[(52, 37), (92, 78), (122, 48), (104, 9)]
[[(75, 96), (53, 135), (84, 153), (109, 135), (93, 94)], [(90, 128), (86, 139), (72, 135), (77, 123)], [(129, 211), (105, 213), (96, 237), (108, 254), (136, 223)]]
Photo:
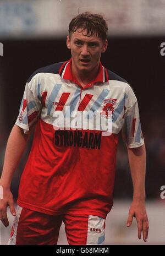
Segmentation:
[[(72, 64), (72, 58), (69, 59), (69, 61), (66, 61), (62, 64), (61, 68), (59, 69), (59, 74), (63, 79), (71, 80), (74, 83), (81, 86), (81, 84), (76, 80), (72, 73), (71, 69)], [(102, 66), (101, 62), (99, 63), (99, 70), (98, 74), (96, 75), (96, 78), (92, 81), (90, 81), (89, 84), (85, 86), (85, 88), (93, 86), (96, 82), (106, 83), (108, 81), (108, 72), (105, 67)], [(82, 86), (81, 86), (82, 87)]]

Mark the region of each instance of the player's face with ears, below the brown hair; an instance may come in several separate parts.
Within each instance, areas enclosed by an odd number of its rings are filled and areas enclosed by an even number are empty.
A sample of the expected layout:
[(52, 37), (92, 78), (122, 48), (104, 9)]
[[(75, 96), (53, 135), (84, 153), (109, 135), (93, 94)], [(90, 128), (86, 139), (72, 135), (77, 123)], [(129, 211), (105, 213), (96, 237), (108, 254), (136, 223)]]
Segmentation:
[(73, 66), (78, 72), (90, 72), (98, 68), (101, 53), (107, 49), (108, 42), (96, 35), (86, 36), (86, 30), (76, 30), (67, 36), (67, 47), (71, 50)]

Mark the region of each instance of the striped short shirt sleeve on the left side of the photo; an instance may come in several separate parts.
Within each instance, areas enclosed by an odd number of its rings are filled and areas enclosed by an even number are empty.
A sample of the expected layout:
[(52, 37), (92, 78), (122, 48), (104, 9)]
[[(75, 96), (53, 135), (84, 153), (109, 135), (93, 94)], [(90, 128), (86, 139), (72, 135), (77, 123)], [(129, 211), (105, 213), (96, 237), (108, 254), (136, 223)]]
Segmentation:
[(32, 79), (26, 83), (23, 99), (21, 101), (19, 115), (15, 124), (28, 134), (30, 129), (37, 122), (41, 113), (41, 100), (37, 97), (36, 80)]

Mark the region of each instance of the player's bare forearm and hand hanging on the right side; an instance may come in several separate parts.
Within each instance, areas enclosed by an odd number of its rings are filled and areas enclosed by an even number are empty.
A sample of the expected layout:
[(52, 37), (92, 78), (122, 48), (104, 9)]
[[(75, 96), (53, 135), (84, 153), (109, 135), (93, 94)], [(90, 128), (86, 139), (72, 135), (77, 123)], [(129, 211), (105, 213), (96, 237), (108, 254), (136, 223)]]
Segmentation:
[(146, 242), (149, 232), (149, 220), (145, 208), (145, 173), (146, 173), (146, 150), (145, 145), (139, 148), (128, 148), (128, 159), (133, 180), (134, 194), (130, 205), (127, 226), (130, 227), (133, 217), (138, 224), (138, 238)]

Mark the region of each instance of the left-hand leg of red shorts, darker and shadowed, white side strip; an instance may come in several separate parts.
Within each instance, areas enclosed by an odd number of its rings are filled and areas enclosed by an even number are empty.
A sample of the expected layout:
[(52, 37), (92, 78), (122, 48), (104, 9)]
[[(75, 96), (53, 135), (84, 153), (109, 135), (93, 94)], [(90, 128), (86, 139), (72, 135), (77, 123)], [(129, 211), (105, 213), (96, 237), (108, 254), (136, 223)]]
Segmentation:
[(8, 244), (57, 244), (61, 224), (62, 215), (47, 215), (18, 206)]

